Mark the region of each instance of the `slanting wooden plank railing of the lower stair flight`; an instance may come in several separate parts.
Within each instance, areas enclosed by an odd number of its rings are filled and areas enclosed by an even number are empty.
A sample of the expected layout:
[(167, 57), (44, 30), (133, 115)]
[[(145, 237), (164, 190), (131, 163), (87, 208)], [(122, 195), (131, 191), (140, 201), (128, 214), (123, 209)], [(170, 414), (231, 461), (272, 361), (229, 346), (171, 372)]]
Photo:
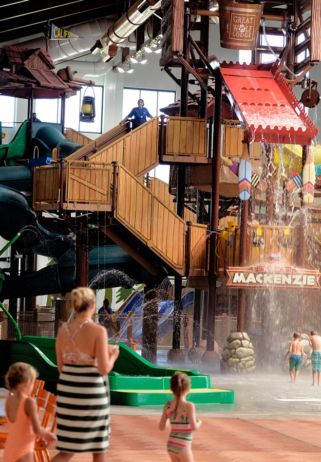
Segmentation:
[(115, 217), (176, 269), (185, 268), (185, 223), (122, 165)]

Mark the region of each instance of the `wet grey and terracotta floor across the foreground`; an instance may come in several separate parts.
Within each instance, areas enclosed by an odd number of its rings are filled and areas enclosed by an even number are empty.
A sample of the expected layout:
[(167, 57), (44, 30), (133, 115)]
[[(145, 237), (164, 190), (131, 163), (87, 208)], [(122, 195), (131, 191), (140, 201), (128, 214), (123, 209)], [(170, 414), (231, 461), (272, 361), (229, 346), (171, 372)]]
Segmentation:
[[(203, 425), (194, 434), (194, 461), (319, 461), (321, 386), (312, 387), (311, 379), (300, 375), (290, 384), (286, 371), (247, 377), (211, 374), (212, 386), (235, 391), (235, 404), (196, 405)], [(162, 406), (111, 406), (108, 462), (169, 461), (168, 430), (158, 430), (161, 412)], [(50, 453), (53, 457), (55, 449)], [(89, 462), (91, 457), (81, 454), (72, 460)]]

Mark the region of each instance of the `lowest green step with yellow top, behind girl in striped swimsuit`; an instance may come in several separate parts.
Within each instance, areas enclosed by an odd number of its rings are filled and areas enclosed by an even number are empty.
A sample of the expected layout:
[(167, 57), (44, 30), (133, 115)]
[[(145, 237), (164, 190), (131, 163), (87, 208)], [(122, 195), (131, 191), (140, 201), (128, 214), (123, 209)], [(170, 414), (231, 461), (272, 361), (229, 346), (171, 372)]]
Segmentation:
[[(152, 406), (173, 399), (169, 390), (110, 390), (111, 402), (122, 406)], [(187, 401), (195, 404), (234, 403), (234, 391), (218, 388), (191, 390)]]

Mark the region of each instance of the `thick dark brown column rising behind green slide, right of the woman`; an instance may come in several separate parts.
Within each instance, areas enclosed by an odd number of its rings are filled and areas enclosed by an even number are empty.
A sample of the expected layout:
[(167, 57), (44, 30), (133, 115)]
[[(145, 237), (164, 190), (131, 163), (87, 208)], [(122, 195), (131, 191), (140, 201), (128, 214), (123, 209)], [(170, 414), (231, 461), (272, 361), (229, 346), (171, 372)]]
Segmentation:
[(158, 298), (158, 287), (144, 287), (142, 357), (153, 364), (157, 360)]

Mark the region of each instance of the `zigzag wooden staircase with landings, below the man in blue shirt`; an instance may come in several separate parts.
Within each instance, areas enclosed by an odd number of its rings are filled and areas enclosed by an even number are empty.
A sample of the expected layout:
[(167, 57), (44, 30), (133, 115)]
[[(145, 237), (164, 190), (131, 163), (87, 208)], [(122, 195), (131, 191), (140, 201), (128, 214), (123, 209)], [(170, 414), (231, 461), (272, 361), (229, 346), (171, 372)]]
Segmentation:
[(34, 210), (107, 212), (112, 226), (102, 231), (150, 272), (205, 275), (206, 226), (186, 224), (168, 197), (140, 180), (164, 155), (207, 162), (206, 119), (174, 119), (155, 117), (122, 136), (115, 127), (114, 139), (108, 132), (54, 166), (35, 168)]

